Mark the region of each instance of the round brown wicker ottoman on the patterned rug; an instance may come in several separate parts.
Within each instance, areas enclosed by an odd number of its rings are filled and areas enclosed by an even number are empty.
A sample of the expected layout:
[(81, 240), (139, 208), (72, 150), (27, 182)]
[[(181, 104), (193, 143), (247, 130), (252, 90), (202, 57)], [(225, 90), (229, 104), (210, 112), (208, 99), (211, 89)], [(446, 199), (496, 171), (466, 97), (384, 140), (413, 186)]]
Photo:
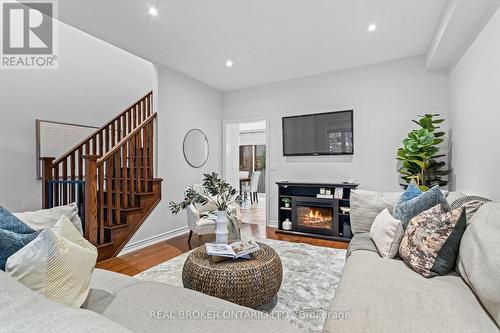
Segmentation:
[(205, 246), (195, 249), (182, 270), (185, 288), (222, 298), (249, 308), (270, 303), (278, 293), (283, 266), (276, 251), (259, 243), (252, 259), (227, 259), (214, 263)]

